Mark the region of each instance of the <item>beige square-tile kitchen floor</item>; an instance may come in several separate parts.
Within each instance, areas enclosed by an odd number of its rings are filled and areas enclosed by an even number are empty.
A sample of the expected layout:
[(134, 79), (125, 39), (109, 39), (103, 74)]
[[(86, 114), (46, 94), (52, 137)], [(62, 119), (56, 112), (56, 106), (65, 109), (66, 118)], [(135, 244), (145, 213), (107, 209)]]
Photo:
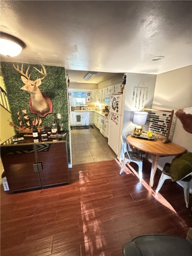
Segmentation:
[(72, 165), (107, 161), (117, 158), (99, 129), (71, 130)]

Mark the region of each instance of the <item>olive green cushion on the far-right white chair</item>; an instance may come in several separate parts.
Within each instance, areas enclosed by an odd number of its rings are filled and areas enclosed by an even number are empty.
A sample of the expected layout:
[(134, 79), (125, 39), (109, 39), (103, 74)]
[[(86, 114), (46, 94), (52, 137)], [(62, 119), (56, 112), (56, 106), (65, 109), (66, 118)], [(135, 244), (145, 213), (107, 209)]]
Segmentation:
[(174, 158), (170, 166), (170, 176), (172, 181), (181, 180), (192, 172), (192, 153), (186, 153)]

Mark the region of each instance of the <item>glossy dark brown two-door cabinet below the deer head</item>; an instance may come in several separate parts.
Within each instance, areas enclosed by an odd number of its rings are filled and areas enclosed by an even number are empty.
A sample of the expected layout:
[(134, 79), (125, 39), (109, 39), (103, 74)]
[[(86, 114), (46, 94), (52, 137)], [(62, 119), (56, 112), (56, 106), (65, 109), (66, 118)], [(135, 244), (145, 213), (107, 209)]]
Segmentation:
[(2, 145), (1, 159), (10, 191), (69, 182), (66, 141)]

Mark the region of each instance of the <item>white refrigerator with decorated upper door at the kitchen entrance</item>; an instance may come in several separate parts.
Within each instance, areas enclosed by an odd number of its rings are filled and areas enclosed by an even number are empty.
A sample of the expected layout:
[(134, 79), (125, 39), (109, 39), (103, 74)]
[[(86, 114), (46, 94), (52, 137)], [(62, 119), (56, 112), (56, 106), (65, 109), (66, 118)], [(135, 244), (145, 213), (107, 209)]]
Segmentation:
[(122, 94), (111, 95), (109, 101), (109, 138), (108, 144), (118, 155), (118, 145), (120, 138), (120, 123), (122, 110)]

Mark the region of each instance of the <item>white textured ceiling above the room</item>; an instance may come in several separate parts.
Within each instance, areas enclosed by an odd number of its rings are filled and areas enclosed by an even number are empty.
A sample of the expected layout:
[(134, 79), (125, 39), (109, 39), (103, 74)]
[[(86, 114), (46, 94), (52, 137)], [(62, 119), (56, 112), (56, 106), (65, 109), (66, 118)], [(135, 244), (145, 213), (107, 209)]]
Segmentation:
[(160, 74), (192, 64), (191, 1), (1, 0), (0, 8), (1, 31), (27, 45), (1, 61), (64, 66), (70, 81), (78, 80), (70, 70)]

